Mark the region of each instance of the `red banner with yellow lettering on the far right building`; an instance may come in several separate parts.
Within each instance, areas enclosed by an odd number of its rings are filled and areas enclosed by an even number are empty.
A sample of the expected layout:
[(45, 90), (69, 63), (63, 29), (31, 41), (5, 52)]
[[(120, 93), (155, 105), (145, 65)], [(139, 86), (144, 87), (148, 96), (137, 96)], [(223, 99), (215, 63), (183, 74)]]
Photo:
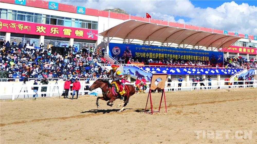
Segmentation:
[[(224, 49), (224, 51), (223, 51)], [(219, 52), (232, 52), (232, 53), (243, 53), (243, 54), (257, 54), (257, 48), (251, 47), (240, 47), (240, 46), (230, 46), (225, 48), (219, 48)]]

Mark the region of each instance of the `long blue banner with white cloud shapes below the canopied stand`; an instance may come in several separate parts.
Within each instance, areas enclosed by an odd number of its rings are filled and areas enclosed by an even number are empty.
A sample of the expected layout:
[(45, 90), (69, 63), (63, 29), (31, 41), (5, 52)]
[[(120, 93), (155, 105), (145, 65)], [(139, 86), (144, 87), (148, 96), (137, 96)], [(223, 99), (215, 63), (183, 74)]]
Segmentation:
[(150, 77), (152, 74), (171, 74), (171, 75), (233, 75), (243, 69), (216, 69), (216, 68), (175, 68), (175, 67), (133, 67), (124, 66), (123, 73), (132, 76)]

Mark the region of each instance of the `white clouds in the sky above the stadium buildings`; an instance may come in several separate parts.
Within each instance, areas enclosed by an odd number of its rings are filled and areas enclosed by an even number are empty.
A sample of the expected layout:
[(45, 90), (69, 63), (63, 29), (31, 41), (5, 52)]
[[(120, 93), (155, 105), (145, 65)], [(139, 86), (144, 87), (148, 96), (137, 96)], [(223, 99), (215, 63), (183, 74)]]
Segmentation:
[(132, 15), (145, 17), (145, 12), (154, 19), (185, 23), (184, 19), (175, 20), (176, 16), (190, 19), (186, 24), (228, 30), (243, 34), (257, 35), (257, 8), (247, 3), (226, 2), (217, 8), (195, 7), (189, 0), (184, 1), (70, 1), (54, 2), (84, 6), (104, 10), (121, 8)]

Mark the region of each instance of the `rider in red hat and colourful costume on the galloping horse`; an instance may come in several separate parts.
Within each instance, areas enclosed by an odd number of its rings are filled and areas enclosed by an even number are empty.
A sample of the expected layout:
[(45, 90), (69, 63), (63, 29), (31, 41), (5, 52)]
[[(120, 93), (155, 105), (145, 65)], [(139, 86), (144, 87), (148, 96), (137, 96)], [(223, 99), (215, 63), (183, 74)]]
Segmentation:
[(108, 74), (113, 78), (113, 81), (111, 84), (114, 84), (117, 89), (117, 93), (120, 97), (120, 99), (123, 99), (123, 95), (125, 93), (125, 90), (123, 89), (123, 86), (120, 83), (120, 78), (124, 79), (124, 75), (121, 73), (121, 71), (117, 70), (118, 65), (111, 65), (112, 70), (109, 70)]

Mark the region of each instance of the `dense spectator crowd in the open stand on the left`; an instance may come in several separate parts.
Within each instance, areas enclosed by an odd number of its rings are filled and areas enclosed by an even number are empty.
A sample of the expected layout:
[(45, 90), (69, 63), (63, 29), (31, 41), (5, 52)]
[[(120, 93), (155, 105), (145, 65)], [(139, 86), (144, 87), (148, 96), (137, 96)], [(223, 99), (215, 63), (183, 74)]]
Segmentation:
[[(1, 40), (0, 78), (14, 78), (8, 81), (24, 81), (28, 78), (107, 78), (106, 69), (101, 64), (109, 62), (101, 58), (103, 50), (93, 47), (82, 50), (71, 49), (71, 53), (52, 52), (49, 50), (28, 49), (24, 46), (9, 47)], [(14, 42), (13, 42), (14, 43)], [(17, 45), (16, 41), (14, 45)], [(28, 44), (30, 45), (30, 44)], [(110, 63), (109, 63), (110, 64)], [(15, 79), (16, 78), (16, 79)]]

